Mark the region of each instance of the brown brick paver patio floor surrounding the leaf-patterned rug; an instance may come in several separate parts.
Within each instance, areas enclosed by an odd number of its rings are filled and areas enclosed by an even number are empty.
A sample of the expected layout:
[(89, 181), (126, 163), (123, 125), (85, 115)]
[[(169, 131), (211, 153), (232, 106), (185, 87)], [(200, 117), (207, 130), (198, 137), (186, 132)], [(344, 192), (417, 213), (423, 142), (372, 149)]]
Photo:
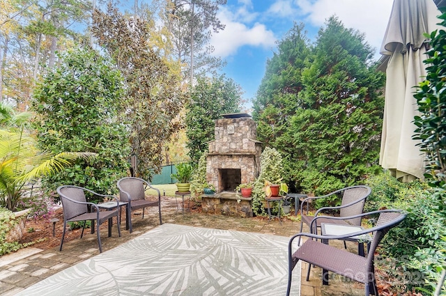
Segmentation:
[[(198, 212), (185, 212), (183, 215), (181, 212), (176, 213), (175, 198), (172, 198), (171, 203), (162, 205), (162, 217), (163, 222), (170, 224), (266, 233), (285, 237), (297, 233), (300, 228), (300, 222), (298, 221), (286, 220), (281, 225), (277, 219), (269, 221), (268, 223), (268, 219), (226, 217), (222, 215), (206, 215)], [(101, 235), (103, 251), (117, 247), (123, 242), (131, 240), (159, 224), (155, 209), (153, 208), (146, 210), (144, 219), (141, 219), (141, 215), (134, 215), (132, 221), (134, 221), (133, 233), (123, 230), (121, 231), (121, 237), (118, 237), (115, 232), (112, 233), (112, 237), (107, 237), (107, 231), (101, 231), (101, 234), (103, 234)], [(116, 231), (116, 229), (113, 228), (113, 231)], [(344, 247), (342, 242), (334, 241), (330, 242), (330, 244), (338, 244), (339, 247)], [(357, 248), (353, 242), (348, 242), (347, 245), (351, 251), (355, 251)], [(12, 256), (3, 256), (0, 259), (0, 261), (6, 262), (6, 264), (0, 264), (1, 295), (15, 295), (21, 290), (24, 290), (24, 288), (52, 274), (56, 274), (67, 267), (99, 254), (96, 236), (91, 235), (91, 233), (87, 233), (82, 239), (64, 243), (63, 251), (61, 252), (59, 252), (59, 248), (45, 251), (33, 250), (31, 248), (27, 249), (27, 252), (31, 253), (31, 256), (20, 258), (21, 252), (19, 252)], [(32, 251), (37, 251), (38, 253), (32, 254)], [(15, 260), (14, 258), (17, 259)], [(307, 263), (302, 263), (301, 295), (364, 295), (362, 284), (352, 282), (332, 273), (330, 273), (330, 284), (323, 286), (321, 269), (318, 267), (312, 268), (309, 281), (306, 281), (307, 267)]]

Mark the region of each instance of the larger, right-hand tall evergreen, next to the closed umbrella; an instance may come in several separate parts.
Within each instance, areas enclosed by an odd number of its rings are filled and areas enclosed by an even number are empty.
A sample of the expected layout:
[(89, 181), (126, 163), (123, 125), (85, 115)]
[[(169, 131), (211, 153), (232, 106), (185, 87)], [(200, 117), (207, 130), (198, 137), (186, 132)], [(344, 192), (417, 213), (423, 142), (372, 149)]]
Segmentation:
[[(370, 66), (364, 35), (330, 17), (318, 32), (314, 60), (302, 71), (300, 108), (291, 120), (293, 175), (321, 194), (375, 173), (380, 149), (384, 75)], [(290, 159), (291, 160), (291, 159)]]

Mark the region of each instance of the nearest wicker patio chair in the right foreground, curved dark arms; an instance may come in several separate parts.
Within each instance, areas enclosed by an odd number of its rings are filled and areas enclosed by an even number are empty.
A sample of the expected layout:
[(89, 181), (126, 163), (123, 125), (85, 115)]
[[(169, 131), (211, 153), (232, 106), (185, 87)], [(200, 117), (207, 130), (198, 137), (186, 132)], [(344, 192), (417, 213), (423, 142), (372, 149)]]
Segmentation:
[[(328, 271), (330, 271), (346, 276), (349, 279), (359, 281), (360, 283), (364, 283), (366, 296), (369, 296), (370, 294), (378, 295), (374, 272), (374, 253), (376, 247), (378, 247), (378, 244), (387, 231), (389, 231), (390, 228), (397, 226), (406, 217), (406, 214), (401, 212), (401, 210), (378, 210), (355, 215), (351, 218), (361, 218), (366, 215), (376, 214), (379, 214), (376, 226), (365, 229), (364, 231), (338, 236), (316, 235), (314, 233), (298, 233), (293, 235), (289, 241), (289, 273), (286, 295), (290, 295), (291, 275), (293, 268), (299, 260), (307, 262), (308, 266), (316, 265), (321, 267), (323, 269), (322, 280), (324, 285), (328, 285)], [(339, 240), (346, 237), (365, 235), (367, 233), (373, 233), (373, 240), (370, 244), (367, 257), (353, 254), (345, 249), (338, 249), (323, 243), (323, 241)], [(296, 237), (302, 236), (310, 237), (311, 239), (308, 239), (302, 246), (293, 251), (293, 240), (295, 240)], [(321, 240), (321, 242), (317, 240)]]

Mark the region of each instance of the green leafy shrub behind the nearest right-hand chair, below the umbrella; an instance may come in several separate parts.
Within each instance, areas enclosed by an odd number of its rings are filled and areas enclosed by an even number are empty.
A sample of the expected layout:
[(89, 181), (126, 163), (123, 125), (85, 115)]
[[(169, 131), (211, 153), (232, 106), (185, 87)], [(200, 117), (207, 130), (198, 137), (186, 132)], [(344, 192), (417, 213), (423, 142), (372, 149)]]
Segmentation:
[(445, 217), (438, 195), (442, 191), (433, 189), (425, 182), (399, 182), (384, 172), (367, 179), (372, 189), (364, 211), (379, 208), (399, 208), (407, 217), (399, 226), (392, 228), (381, 243), (380, 254), (387, 261), (380, 265), (385, 273), (394, 276), (394, 286), (422, 290), (429, 295), (445, 267), (446, 237)]

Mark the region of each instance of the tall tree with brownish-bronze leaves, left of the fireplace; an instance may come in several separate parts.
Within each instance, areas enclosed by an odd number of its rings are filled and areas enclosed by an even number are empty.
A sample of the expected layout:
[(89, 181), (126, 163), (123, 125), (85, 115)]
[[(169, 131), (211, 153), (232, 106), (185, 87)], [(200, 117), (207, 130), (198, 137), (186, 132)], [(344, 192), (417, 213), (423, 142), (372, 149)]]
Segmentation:
[(93, 34), (124, 77), (123, 120), (131, 127), (134, 176), (161, 167), (164, 147), (180, 127), (178, 114), (186, 100), (180, 77), (148, 45), (149, 27), (139, 17), (124, 17), (112, 5), (107, 13), (95, 10), (93, 15)]

